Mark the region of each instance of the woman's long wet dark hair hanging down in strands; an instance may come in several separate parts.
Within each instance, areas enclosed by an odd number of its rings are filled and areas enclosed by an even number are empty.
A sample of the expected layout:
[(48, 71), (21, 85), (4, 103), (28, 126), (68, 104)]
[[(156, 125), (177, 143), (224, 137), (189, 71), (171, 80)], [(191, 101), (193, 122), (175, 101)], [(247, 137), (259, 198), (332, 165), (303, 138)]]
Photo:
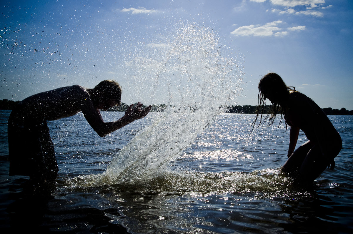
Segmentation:
[[(266, 106), (266, 97), (264, 95), (264, 90), (271, 92), (271, 95), (274, 96), (273, 103), (267, 108)], [(256, 109), (256, 118), (252, 122), (252, 127), (250, 133), (255, 127), (255, 123), (260, 115), (260, 122), (257, 125), (259, 127), (262, 123), (268, 122), (268, 125), (274, 123), (275, 118), (280, 114), (281, 119), (278, 127), (285, 120), (286, 129), (287, 122), (285, 119), (285, 109), (287, 107), (287, 101), (289, 99), (289, 90), (295, 91), (294, 87), (288, 87), (282, 78), (276, 73), (268, 73), (264, 75), (259, 82), (259, 93), (257, 95), (257, 109)], [(267, 112), (267, 115), (263, 118), (263, 115)]]

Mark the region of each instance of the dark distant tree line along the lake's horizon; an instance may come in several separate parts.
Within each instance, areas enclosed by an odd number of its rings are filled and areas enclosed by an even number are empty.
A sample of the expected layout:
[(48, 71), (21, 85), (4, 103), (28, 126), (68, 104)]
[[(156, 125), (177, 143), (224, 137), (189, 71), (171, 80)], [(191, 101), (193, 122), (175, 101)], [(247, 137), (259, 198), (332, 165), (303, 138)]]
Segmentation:
[[(7, 100), (3, 99), (0, 100), (0, 110), (12, 110), (14, 106), (16, 106), (20, 101), (12, 101), (12, 100)], [(107, 111), (126, 111), (127, 107), (126, 103), (121, 103), (119, 106), (113, 106), (112, 108), (109, 108)], [(146, 107), (146, 106), (144, 106)], [(269, 105), (265, 107), (265, 113), (267, 113), (267, 110), (269, 110)], [(151, 112), (163, 112), (164, 109), (167, 108), (166, 104), (159, 104), (159, 105), (152, 105)], [(255, 114), (257, 106), (251, 106), (251, 105), (235, 105), (235, 106), (222, 106), (225, 110), (225, 113), (241, 113), (241, 114)], [(196, 106), (190, 107), (192, 110), (197, 110)], [(331, 107), (323, 108), (322, 109), (326, 115), (353, 115), (353, 110), (348, 111), (346, 108), (341, 108), (340, 110), (338, 109), (332, 109)]]

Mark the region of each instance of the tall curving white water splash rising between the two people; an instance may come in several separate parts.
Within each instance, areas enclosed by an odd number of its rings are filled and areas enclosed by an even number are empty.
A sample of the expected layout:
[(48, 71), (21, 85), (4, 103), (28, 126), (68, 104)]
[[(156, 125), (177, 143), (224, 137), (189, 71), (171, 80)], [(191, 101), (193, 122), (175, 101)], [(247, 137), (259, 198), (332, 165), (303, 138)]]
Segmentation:
[(221, 56), (223, 47), (211, 29), (185, 25), (164, 48), (168, 53), (162, 60), (148, 58), (148, 69), (141, 58), (131, 67), (140, 80), (154, 84), (152, 102), (162, 101), (167, 109), (119, 151), (97, 184), (131, 183), (155, 175), (239, 93), (241, 68), (233, 58)]

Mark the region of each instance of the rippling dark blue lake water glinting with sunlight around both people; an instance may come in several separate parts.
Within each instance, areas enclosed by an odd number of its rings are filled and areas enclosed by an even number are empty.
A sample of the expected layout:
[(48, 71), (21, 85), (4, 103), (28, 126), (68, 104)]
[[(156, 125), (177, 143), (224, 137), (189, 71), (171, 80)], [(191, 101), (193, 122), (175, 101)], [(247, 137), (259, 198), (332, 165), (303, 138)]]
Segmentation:
[[(105, 121), (122, 114), (102, 112)], [(141, 135), (142, 129), (156, 125), (163, 114), (150, 113), (104, 138), (78, 114), (48, 123), (59, 164), (57, 184), (33, 191), (28, 177), (8, 176), (9, 115), (10, 111), (0, 111), (2, 230), (353, 233), (353, 116), (329, 116), (343, 141), (335, 169), (325, 170), (312, 188), (302, 189), (279, 170), (287, 159), (289, 129), (274, 124), (249, 135), (255, 118), (251, 114), (219, 114), (186, 148), (180, 147), (169, 157), (164, 156), (173, 147), (160, 151), (163, 160), (157, 164), (163, 166), (152, 164), (153, 170), (147, 170), (148, 166), (124, 164), (120, 167), (128, 179), (102, 182), (103, 175), (116, 176), (121, 169), (114, 156)], [(181, 132), (180, 141), (184, 132), (187, 129)], [(145, 134), (146, 140), (150, 137)], [(301, 132), (298, 146), (305, 141)], [(173, 144), (178, 146), (178, 140)], [(147, 149), (156, 153), (153, 147)], [(137, 154), (133, 164), (148, 158), (149, 152)], [(112, 160), (114, 165), (107, 172)]]

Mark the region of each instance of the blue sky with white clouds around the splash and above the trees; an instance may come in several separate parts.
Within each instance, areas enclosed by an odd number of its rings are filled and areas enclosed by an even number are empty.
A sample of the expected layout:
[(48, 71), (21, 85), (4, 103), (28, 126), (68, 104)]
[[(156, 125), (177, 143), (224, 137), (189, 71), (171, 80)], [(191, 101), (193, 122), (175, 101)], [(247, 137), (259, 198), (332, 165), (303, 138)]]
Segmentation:
[[(126, 64), (166, 45), (180, 22), (214, 29), (244, 66), (234, 104), (256, 105), (268, 72), (321, 107), (353, 110), (353, 2), (349, 0), (1, 2), (0, 99), (72, 84), (122, 84), (136, 97)], [(225, 54), (225, 56), (233, 56)], [(125, 89), (124, 89), (125, 87)], [(125, 96), (124, 96), (125, 95)], [(149, 103), (146, 103), (149, 104)]]

